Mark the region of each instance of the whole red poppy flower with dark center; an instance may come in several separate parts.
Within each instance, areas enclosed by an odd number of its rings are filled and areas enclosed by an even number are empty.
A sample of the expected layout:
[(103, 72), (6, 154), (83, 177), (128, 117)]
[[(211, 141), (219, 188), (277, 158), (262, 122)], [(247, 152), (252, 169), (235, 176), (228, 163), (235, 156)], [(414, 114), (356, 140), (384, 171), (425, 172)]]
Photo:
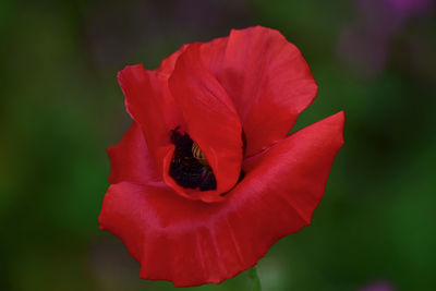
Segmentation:
[(343, 112), (289, 136), (317, 86), (295, 46), (251, 27), (185, 45), (155, 71), (118, 80), (134, 120), (108, 149), (100, 228), (119, 237), (140, 276), (218, 283), (311, 222)]

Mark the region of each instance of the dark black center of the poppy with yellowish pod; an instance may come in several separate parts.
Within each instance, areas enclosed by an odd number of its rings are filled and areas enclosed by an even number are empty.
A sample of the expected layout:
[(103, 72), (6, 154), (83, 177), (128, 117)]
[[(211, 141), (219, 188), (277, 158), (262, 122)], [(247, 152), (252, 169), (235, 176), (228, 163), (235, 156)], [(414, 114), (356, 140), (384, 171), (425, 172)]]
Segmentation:
[(170, 166), (170, 175), (182, 187), (199, 191), (217, 189), (217, 181), (207, 159), (198, 145), (185, 133), (171, 131), (171, 142), (175, 145)]

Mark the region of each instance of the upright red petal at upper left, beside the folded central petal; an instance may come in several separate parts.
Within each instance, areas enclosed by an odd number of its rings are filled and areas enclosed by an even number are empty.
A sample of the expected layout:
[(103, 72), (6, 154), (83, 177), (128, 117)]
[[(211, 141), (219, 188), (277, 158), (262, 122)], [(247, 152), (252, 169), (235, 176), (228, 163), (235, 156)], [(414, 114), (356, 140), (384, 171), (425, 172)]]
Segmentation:
[(118, 73), (128, 112), (141, 124), (159, 172), (162, 171), (164, 157), (173, 147), (170, 143), (170, 130), (182, 124), (180, 112), (168, 88), (168, 76), (184, 49), (182, 47), (169, 56), (156, 71), (147, 71), (142, 64), (137, 64), (126, 66)]

